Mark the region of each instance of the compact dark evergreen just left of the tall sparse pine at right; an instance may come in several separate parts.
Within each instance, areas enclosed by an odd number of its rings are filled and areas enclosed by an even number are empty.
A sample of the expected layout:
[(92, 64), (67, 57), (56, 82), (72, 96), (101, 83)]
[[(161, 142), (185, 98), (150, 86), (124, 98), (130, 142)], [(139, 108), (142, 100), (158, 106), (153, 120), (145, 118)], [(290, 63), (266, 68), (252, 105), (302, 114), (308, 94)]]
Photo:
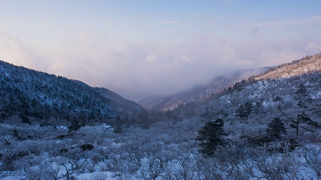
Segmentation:
[(274, 117), (273, 120), (267, 124), (266, 133), (275, 139), (281, 139), (281, 135), (286, 134), (284, 122), (280, 118)]

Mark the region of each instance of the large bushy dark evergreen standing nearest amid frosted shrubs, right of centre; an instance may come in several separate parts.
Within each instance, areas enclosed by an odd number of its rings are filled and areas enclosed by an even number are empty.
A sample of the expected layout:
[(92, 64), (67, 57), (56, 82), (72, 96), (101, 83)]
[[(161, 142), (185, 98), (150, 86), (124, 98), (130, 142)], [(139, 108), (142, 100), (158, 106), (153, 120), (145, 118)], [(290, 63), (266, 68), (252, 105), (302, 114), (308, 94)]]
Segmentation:
[(205, 122), (205, 126), (202, 127), (196, 140), (201, 141), (199, 144), (201, 153), (212, 155), (215, 149), (224, 144), (223, 135), (227, 135), (227, 132), (223, 129), (224, 122), (221, 118), (216, 118), (215, 121)]

